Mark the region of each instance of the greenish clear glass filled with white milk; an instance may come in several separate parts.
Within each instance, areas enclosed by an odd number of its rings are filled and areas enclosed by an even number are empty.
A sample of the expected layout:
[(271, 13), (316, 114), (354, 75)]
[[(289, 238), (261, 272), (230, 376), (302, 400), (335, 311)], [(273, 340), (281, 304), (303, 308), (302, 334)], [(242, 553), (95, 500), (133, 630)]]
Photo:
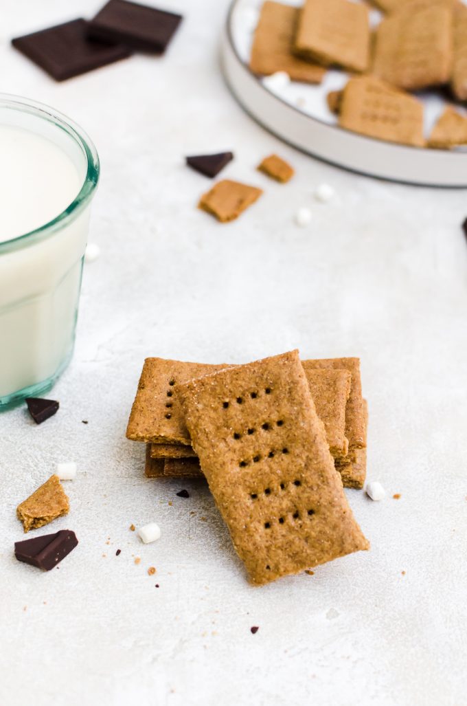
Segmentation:
[(0, 95), (0, 409), (48, 390), (73, 353), (95, 146), (55, 110)]

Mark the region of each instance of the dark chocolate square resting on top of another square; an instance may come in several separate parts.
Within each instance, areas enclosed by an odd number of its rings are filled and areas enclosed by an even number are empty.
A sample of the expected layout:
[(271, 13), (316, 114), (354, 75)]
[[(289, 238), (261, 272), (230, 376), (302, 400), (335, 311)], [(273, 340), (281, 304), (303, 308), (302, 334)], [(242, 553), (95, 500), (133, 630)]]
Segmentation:
[(91, 20), (88, 35), (142, 52), (162, 54), (181, 20), (181, 15), (147, 5), (109, 0)]

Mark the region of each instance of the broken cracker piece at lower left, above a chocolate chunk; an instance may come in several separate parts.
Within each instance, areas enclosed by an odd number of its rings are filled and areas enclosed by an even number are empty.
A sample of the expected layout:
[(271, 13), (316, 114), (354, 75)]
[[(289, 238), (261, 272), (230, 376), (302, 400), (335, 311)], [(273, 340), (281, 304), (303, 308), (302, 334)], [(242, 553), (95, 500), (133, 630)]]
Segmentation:
[(29, 498), (18, 505), (16, 515), (18, 520), (23, 522), (24, 531), (29, 532), (37, 527), (48, 525), (56, 517), (68, 515), (69, 509), (70, 503), (63, 491), (60, 479), (53, 475)]

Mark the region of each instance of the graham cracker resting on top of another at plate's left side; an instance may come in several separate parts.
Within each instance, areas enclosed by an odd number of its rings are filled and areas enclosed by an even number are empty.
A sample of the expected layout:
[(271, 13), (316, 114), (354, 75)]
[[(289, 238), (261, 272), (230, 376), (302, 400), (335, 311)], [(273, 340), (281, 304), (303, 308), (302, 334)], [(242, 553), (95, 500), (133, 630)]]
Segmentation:
[(325, 66), (366, 71), (370, 61), (368, 7), (348, 0), (305, 0), (294, 50)]

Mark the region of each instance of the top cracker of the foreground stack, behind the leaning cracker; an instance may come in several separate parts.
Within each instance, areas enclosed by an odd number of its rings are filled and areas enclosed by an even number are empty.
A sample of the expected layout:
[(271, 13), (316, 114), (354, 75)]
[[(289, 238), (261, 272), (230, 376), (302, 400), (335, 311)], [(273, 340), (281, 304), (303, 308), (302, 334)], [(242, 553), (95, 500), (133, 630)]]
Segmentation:
[[(346, 455), (348, 450), (346, 409), (348, 395), (352, 390), (351, 374), (349, 375), (352, 369), (348, 362), (341, 366), (341, 370), (332, 362), (321, 362), (322, 365), (318, 365), (317, 361), (304, 361), (303, 365), (307, 374), (310, 371), (310, 389), (315, 398), (317, 413), (325, 424), (332, 453)], [(166, 455), (170, 453), (170, 448), (166, 445), (173, 445), (173, 456), (181, 455), (183, 452), (177, 448), (177, 445), (190, 448), (190, 435), (178, 400), (178, 383), (186, 383), (192, 378), (214, 373), (226, 367), (228, 366), (225, 364), (213, 365), (147, 358), (131, 409), (126, 431), (127, 438), (133, 441), (151, 442), (154, 446), (162, 443), (162, 453)], [(315, 369), (320, 367), (327, 371), (317, 373)], [(360, 390), (361, 395), (359, 370), (356, 370), (356, 375), (358, 379), (355, 385), (360, 385), (357, 389)], [(154, 454), (157, 455), (157, 450), (154, 450)]]

